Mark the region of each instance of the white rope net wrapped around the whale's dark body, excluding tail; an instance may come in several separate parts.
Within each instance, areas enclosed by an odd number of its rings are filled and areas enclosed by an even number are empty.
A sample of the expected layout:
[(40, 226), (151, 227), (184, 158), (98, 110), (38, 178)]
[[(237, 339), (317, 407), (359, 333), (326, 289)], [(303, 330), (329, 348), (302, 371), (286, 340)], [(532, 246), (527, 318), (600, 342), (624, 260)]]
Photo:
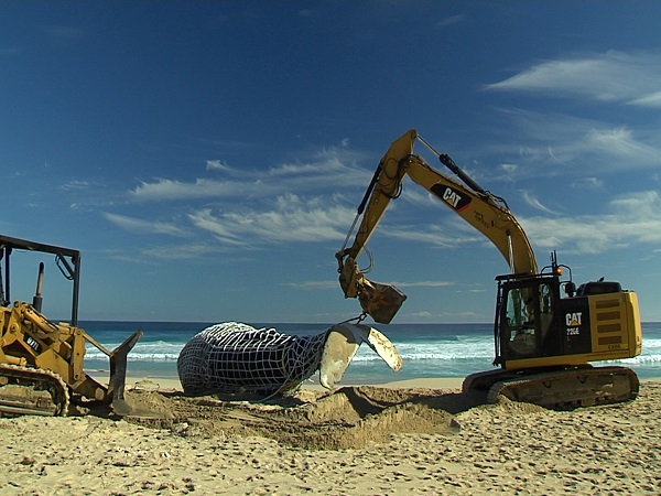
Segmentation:
[(182, 349), (182, 387), (187, 395), (293, 392), (317, 370), (327, 333), (289, 336), (236, 322), (213, 325)]

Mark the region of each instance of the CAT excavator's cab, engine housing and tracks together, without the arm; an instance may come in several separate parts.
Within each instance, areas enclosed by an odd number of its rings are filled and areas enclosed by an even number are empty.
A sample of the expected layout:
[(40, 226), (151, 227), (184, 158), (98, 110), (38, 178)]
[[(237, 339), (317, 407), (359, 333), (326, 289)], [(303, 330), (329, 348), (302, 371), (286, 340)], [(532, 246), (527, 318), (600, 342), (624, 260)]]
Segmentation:
[[(496, 278), (494, 326), (499, 370), (464, 381), (468, 391), (488, 391), (549, 408), (608, 405), (638, 395), (636, 373), (592, 362), (631, 358), (641, 353), (638, 300), (617, 282), (582, 284), (551, 273)], [(562, 295), (562, 289), (565, 295)]]

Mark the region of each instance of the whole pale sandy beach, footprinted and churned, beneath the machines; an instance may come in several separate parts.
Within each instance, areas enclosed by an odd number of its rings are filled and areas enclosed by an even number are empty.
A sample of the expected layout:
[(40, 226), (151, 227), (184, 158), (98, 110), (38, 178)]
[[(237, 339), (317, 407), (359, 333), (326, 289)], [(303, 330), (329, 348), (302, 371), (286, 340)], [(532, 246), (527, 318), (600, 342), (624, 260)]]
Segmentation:
[(151, 417), (0, 419), (1, 494), (661, 494), (657, 379), (574, 411), (475, 405), (456, 379), (264, 405), (128, 384)]

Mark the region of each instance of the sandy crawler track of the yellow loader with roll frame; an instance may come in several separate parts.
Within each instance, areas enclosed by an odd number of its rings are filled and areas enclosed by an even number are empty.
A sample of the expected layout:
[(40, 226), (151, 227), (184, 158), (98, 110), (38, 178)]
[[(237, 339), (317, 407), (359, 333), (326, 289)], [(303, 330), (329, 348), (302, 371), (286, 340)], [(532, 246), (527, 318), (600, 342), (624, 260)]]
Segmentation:
[(68, 388), (57, 374), (0, 364), (0, 417), (64, 417), (68, 403)]

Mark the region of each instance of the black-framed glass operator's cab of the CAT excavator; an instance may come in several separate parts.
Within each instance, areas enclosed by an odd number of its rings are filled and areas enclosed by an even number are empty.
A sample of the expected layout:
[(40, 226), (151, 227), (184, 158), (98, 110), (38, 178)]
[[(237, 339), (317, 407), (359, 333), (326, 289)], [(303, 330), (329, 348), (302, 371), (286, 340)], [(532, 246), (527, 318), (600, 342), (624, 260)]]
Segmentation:
[(510, 281), (502, 284), (500, 309), (501, 358), (534, 358), (549, 352), (555, 325), (557, 283), (553, 278)]

